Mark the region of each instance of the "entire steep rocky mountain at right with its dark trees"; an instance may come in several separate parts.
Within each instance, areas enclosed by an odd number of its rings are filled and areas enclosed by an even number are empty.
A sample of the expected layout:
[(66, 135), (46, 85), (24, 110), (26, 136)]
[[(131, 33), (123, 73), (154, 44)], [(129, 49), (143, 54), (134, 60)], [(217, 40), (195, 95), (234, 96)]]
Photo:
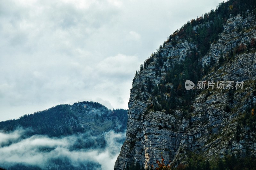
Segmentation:
[(161, 159), (173, 168), (218, 169), (224, 161), (230, 169), (228, 160), (245, 158), (252, 169), (255, 53), (255, 0), (223, 2), (170, 35), (135, 73), (114, 169), (157, 167)]

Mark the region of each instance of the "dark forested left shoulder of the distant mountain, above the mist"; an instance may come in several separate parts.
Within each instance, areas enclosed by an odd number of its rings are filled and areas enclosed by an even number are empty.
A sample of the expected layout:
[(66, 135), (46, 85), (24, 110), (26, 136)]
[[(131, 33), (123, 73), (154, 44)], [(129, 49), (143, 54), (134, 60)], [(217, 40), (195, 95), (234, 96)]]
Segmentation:
[(58, 105), (19, 119), (0, 122), (0, 129), (12, 131), (17, 127), (32, 128), (31, 135), (61, 136), (84, 132), (69, 105)]

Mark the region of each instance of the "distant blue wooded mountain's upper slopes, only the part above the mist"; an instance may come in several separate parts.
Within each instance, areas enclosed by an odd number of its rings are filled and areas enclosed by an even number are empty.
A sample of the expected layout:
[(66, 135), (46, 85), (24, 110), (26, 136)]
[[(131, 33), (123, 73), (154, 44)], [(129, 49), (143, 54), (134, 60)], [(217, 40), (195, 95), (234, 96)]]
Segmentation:
[[(110, 129), (116, 132), (126, 129), (127, 110), (113, 109), (96, 102), (77, 102), (73, 105), (57, 105), (19, 119), (0, 122), (0, 129), (12, 131), (17, 127), (31, 128), (31, 134), (59, 137), (90, 131), (94, 135)], [(97, 133), (97, 134), (96, 134)]]

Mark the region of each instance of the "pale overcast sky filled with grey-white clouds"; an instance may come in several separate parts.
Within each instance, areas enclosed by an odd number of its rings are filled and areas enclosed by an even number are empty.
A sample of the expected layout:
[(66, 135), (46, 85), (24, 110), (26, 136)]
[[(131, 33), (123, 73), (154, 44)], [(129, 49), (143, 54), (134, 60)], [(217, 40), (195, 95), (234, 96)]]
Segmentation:
[(0, 0), (0, 121), (57, 104), (128, 108), (134, 73), (221, 0)]

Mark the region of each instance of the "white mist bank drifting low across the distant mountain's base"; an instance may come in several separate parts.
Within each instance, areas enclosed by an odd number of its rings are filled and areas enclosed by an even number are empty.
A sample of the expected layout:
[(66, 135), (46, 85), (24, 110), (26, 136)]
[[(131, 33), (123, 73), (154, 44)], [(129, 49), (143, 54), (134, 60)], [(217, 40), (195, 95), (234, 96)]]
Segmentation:
[[(78, 149), (75, 147), (81, 136), (68, 136), (62, 138), (49, 138), (47, 136), (34, 135), (23, 138), (26, 130), (17, 129), (11, 133), (0, 132), (0, 165), (9, 168), (17, 164), (40, 167), (56, 166), (52, 163), (61, 160), (72, 167), (88, 167), (96, 163), (97, 168), (112, 170), (116, 158), (124, 141), (125, 133), (109, 131), (104, 135), (105, 148)], [(122, 141), (122, 142), (121, 142)]]

